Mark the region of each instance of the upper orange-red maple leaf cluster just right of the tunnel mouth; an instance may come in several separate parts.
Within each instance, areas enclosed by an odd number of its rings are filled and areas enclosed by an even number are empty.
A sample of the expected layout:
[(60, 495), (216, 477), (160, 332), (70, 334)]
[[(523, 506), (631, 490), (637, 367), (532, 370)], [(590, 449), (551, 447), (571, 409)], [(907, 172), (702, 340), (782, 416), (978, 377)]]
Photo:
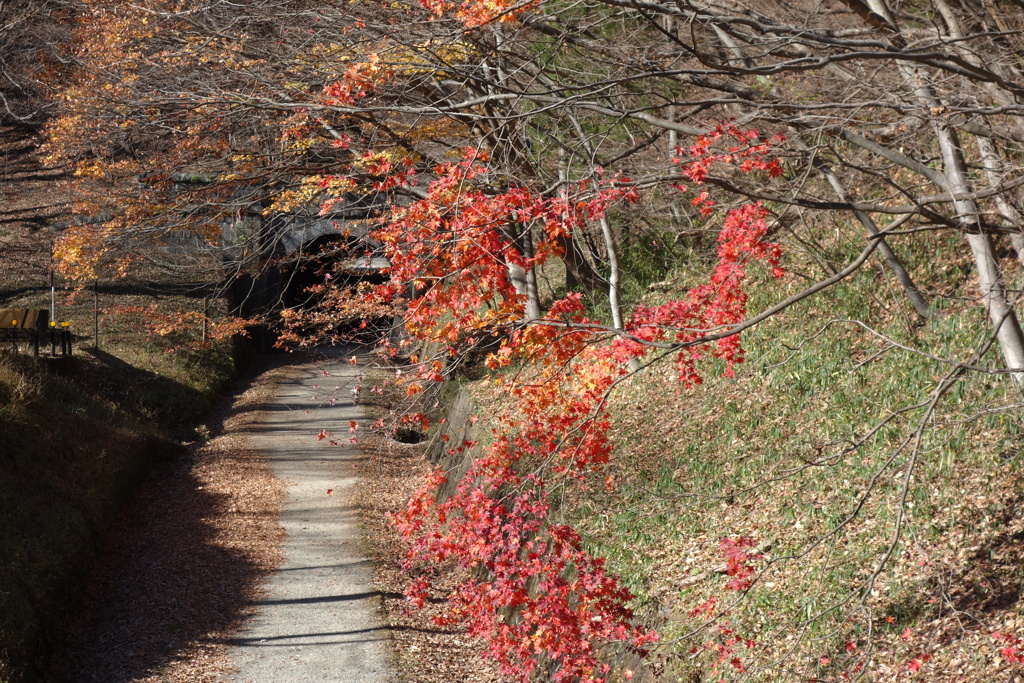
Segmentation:
[[(406, 314), (414, 336), (454, 345), (461, 337), (515, 325), (522, 319), (524, 297), (509, 280), (508, 267), (541, 265), (559, 255), (557, 238), (604, 215), (614, 202), (636, 200), (625, 184), (629, 179), (621, 177), (578, 183), (567, 198), (591, 195), (579, 201), (547, 199), (525, 187), (488, 194), (478, 185), (485, 180), (486, 162), (484, 153), (468, 147), (459, 162), (438, 166), (427, 197), (396, 207), (375, 233), (391, 262), (388, 296), (408, 296), (410, 284), (416, 290)], [(526, 258), (513, 229), (534, 222), (544, 232), (536, 255)]]

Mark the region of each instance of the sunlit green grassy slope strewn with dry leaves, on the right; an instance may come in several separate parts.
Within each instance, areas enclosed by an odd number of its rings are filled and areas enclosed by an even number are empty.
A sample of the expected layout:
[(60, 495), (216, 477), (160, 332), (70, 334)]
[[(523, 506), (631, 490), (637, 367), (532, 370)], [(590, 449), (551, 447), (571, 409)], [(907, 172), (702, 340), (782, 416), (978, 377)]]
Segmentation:
[[(825, 248), (837, 261), (853, 253)], [(957, 298), (973, 285), (958, 240), (898, 248), (930, 290), (936, 319), (919, 326), (888, 275), (865, 269), (750, 333), (749, 360), (735, 379), (709, 362), (705, 384), (684, 391), (663, 361), (613, 397), (618, 489), (609, 495), (595, 481), (567, 514), (659, 626), (667, 643), (654, 661), (666, 680), (718, 680), (711, 677), (717, 655), (691, 653), (723, 641), (690, 615), (713, 596), (722, 609), (738, 600), (719, 618), (757, 642), (739, 648), (750, 668), (743, 680), (842, 680), (868, 650), (868, 680), (910, 680), (915, 658), (921, 680), (1007, 675), (990, 634), (1024, 626), (1024, 515), (1022, 421), (1005, 376), (969, 375), (924, 424), (903, 539), (873, 590), (863, 589), (900, 507), (909, 451), (898, 444), (924, 411), (848, 446), (927, 400), (948, 367), (899, 348), (879, 354), (888, 342), (844, 321), (957, 358), (970, 357), (986, 332), (983, 309)], [(806, 253), (791, 249), (788, 258), (793, 270), (821, 272)], [(1010, 258), (1005, 266), (1018, 270)], [(700, 268), (689, 271), (696, 282)], [(678, 295), (692, 283), (676, 274)], [(762, 275), (751, 309), (802, 284), (794, 274), (777, 283)], [(992, 350), (984, 361), (998, 367), (1001, 358)], [(843, 524), (872, 477), (863, 508)], [(720, 540), (738, 536), (769, 546), (755, 563), (763, 573), (743, 596), (723, 591), (726, 578), (714, 570), (724, 561)], [(725, 663), (718, 674), (732, 680), (738, 672)]]

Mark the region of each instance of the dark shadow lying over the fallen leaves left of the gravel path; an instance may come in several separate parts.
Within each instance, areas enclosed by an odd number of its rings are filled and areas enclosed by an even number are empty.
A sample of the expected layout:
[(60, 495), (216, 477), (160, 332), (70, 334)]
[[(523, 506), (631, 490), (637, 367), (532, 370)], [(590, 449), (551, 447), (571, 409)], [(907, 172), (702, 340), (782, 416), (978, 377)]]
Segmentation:
[[(253, 453), (231, 458), (255, 460)], [(127, 683), (236, 629), (265, 573), (210, 522), (239, 514), (191, 468), (147, 482), (111, 535), (51, 683)], [(251, 511), (247, 511), (251, 513)]]

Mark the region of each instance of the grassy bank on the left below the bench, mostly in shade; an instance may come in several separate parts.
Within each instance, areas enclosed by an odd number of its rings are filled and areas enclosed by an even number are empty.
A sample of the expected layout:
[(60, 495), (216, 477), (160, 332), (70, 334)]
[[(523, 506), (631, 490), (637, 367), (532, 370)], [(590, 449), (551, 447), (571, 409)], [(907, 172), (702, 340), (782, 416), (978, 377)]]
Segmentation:
[(226, 345), (164, 347), (136, 335), (70, 360), (0, 355), (0, 680), (45, 651), (120, 504), (195, 439), (232, 373)]

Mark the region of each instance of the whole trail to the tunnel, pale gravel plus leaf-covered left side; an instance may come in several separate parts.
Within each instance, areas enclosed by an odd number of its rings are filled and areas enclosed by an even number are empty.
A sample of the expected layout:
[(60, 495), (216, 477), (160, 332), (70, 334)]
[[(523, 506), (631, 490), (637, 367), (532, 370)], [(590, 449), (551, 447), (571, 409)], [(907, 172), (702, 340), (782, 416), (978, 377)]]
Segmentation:
[(396, 680), (354, 502), (351, 354), (268, 359), (139, 490), (43, 681)]

